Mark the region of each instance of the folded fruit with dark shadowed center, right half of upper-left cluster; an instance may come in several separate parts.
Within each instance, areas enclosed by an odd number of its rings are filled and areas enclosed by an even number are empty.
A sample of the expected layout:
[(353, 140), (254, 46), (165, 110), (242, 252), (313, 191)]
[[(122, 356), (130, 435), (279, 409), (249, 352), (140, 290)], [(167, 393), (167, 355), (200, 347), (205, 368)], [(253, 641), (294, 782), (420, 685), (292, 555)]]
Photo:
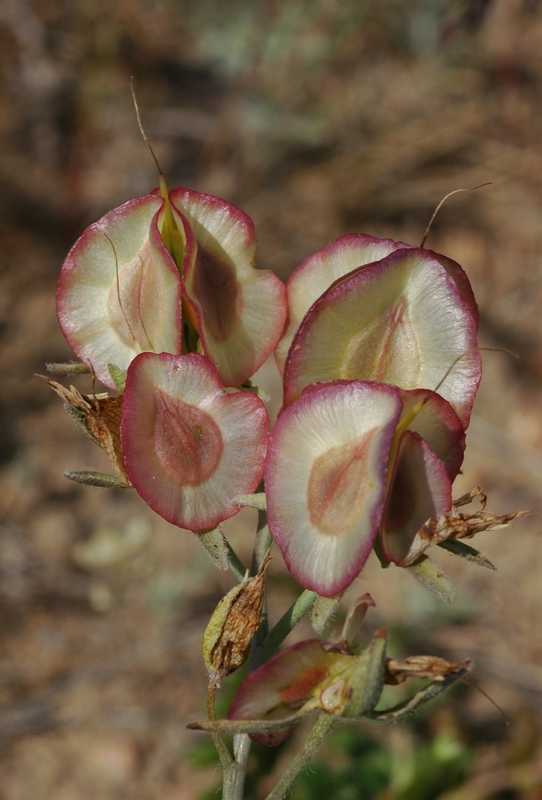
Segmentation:
[(185, 260), (183, 291), (206, 358), (225, 386), (240, 386), (273, 352), (286, 319), (286, 289), (254, 266), (254, 225), (218, 197), (175, 189), (174, 217), (184, 217), (197, 247)]

